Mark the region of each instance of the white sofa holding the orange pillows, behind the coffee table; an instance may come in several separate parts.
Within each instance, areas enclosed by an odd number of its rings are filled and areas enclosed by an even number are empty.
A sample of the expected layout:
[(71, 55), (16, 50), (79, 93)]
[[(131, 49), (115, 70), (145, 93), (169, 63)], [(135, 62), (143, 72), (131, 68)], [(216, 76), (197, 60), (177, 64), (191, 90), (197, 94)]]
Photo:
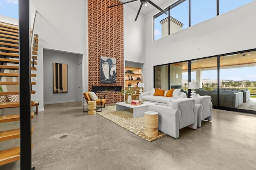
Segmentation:
[(154, 96), (154, 89), (150, 92), (144, 92), (140, 94), (140, 100), (145, 99), (147, 102), (152, 102), (158, 105), (166, 106), (167, 102), (170, 102), (172, 99), (187, 98), (186, 93), (181, 92), (180, 89), (175, 89), (173, 92), (173, 97), (166, 96)]

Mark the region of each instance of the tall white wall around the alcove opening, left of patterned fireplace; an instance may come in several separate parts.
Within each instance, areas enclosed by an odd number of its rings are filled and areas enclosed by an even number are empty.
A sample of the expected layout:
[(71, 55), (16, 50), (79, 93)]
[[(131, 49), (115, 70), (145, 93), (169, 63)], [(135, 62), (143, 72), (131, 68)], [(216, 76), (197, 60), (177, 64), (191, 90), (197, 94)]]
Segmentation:
[[(83, 56), (82, 77), (87, 77), (87, 1), (32, 0), (31, 4), (30, 13), (35, 14), (35, 11), (38, 11), (34, 33), (39, 35), (37, 82), (33, 87), (36, 95), (32, 95), (32, 100), (38, 100), (40, 102), (38, 111), (43, 111), (43, 49), (81, 54)], [(31, 18), (34, 16), (31, 15)], [(87, 78), (83, 79), (82, 91), (87, 91), (87, 81)]]

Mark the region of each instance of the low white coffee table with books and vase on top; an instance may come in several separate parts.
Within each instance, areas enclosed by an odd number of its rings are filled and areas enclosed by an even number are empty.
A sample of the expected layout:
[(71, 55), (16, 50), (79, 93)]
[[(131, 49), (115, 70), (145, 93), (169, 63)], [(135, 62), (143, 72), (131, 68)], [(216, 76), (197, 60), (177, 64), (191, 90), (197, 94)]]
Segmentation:
[(143, 102), (141, 105), (134, 106), (131, 104), (126, 104), (124, 102), (118, 102), (116, 103), (116, 111), (133, 109), (133, 117), (140, 117), (140, 116), (144, 116), (144, 112), (148, 111), (148, 106), (152, 104), (154, 103)]

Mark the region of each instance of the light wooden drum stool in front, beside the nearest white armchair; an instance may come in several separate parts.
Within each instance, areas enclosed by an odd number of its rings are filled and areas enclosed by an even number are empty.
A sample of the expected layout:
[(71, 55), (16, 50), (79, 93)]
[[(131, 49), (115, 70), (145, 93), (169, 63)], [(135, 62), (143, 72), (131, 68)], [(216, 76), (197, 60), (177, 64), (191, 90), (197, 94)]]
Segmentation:
[(144, 113), (145, 135), (148, 137), (158, 136), (158, 113), (156, 111), (146, 111)]

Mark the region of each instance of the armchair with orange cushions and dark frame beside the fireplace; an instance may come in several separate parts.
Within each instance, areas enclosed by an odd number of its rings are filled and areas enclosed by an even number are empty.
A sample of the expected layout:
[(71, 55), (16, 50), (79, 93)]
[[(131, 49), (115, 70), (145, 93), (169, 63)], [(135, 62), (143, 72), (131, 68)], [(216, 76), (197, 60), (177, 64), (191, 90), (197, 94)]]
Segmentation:
[[(100, 106), (100, 107), (96, 107), (96, 108), (100, 108), (100, 111), (102, 111), (102, 108), (106, 107), (107, 100), (98, 98), (94, 92), (84, 92), (84, 99), (86, 100), (87, 103), (88, 103), (88, 101), (95, 100), (96, 105)], [(85, 112), (84, 111), (84, 99), (83, 99), (83, 112)], [(104, 107), (102, 107), (102, 105), (104, 105)]]

